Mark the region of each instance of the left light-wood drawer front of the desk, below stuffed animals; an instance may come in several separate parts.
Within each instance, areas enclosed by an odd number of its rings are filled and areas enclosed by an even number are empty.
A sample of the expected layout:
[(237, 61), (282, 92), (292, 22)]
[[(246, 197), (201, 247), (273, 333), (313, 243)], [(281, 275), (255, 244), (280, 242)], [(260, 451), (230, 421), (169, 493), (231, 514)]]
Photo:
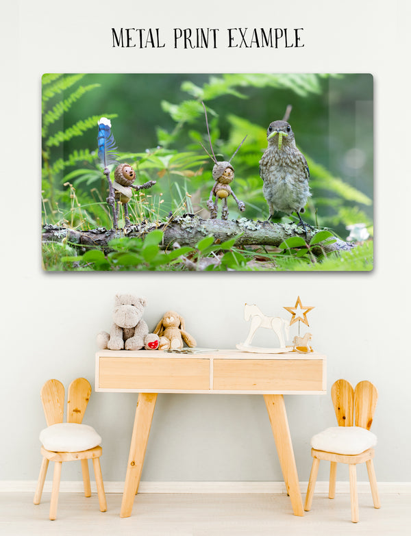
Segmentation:
[(207, 390), (210, 388), (210, 360), (100, 357), (99, 388)]

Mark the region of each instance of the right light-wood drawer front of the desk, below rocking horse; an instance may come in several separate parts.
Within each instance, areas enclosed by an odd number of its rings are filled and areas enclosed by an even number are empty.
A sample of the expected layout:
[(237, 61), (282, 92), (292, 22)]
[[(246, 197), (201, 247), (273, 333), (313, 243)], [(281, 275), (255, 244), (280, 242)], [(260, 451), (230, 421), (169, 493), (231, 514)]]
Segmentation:
[(213, 389), (323, 391), (323, 360), (214, 359)]

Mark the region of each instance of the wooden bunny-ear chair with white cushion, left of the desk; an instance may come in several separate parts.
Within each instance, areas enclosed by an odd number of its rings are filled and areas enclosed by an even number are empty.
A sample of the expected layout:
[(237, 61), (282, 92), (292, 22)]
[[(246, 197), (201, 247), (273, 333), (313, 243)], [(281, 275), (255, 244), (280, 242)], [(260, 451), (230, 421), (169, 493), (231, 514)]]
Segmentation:
[(88, 459), (92, 459), (99, 496), (100, 510), (105, 512), (107, 504), (99, 457), (102, 450), (99, 444), (101, 437), (92, 426), (82, 424), (84, 412), (91, 394), (91, 385), (84, 378), (77, 378), (69, 385), (67, 400), (67, 422), (63, 423), (64, 386), (58, 380), (49, 380), (42, 386), (40, 392), (42, 406), (45, 410), (47, 428), (40, 433), (42, 447), (42, 464), (34, 504), (40, 504), (42, 489), (45, 484), (49, 461), (54, 461), (53, 488), (50, 502), (50, 519), (55, 520), (60, 487), (62, 462), (81, 460), (84, 482), (84, 495), (91, 496)]

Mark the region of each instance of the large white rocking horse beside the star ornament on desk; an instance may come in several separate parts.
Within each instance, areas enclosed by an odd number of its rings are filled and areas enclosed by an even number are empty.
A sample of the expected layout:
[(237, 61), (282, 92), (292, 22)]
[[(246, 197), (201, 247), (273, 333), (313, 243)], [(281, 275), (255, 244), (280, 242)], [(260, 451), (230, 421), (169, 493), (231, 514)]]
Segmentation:
[[(242, 344), (237, 344), (236, 347), (239, 350), (253, 351), (253, 352), (264, 352), (264, 353), (280, 353), (288, 352), (291, 348), (286, 346), (286, 340), (284, 339), (284, 331), (286, 333), (286, 339), (288, 339), (290, 334), (290, 324), (284, 318), (280, 316), (266, 316), (257, 305), (249, 305), (248, 303), (244, 306), (244, 318), (245, 320), (250, 320), (250, 331), (247, 335), (247, 339)], [(254, 335), (258, 328), (266, 328), (274, 331), (279, 340), (279, 348), (261, 348), (260, 346), (251, 346)]]

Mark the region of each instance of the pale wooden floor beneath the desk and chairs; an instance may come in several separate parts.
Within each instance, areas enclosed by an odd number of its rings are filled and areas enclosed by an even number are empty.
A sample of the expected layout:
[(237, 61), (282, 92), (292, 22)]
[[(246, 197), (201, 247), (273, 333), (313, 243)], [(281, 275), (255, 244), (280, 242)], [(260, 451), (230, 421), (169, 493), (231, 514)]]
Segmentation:
[(0, 535), (140, 536), (333, 536), (409, 535), (411, 494), (382, 494), (373, 508), (371, 494), (359, 494), (360, 522), (350, 521), (349, 494), (334, 500), (315, 494), (305, 517), (291, 513), (282, 494), (138, 494), (131, 518), (120, 519), (121, 494), (107, 494), (108, 511), (99, 511), (97, 494), (60, 492), (57, 520), (48, 519), (50, 494), (33, 505), (28, 493), (0, 494)]

